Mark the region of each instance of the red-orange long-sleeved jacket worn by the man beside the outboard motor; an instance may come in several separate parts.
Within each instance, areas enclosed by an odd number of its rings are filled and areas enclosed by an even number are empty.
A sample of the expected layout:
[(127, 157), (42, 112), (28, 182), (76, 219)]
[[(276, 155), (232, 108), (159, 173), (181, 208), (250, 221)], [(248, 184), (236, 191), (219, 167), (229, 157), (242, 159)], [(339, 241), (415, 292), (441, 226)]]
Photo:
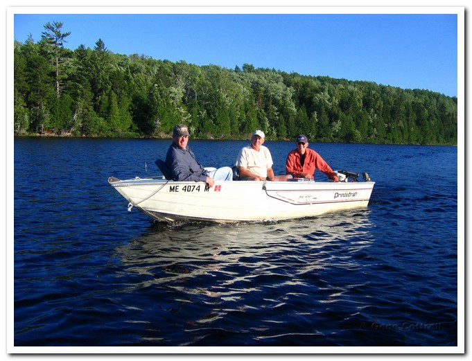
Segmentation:
[(286, 161), (287, 174), (293, 175), (294, 178), (301, 178), (303, 177), (301, 175), (302, 173), (314, 175), (315, 169), (320, 170), (330, 178), (336, 175), (321, 155), (313, 149), (306, 148), (305, 163), (303, 167), (300, 164), (300, 153), (298, 149), (294, 149), (288, 153)]

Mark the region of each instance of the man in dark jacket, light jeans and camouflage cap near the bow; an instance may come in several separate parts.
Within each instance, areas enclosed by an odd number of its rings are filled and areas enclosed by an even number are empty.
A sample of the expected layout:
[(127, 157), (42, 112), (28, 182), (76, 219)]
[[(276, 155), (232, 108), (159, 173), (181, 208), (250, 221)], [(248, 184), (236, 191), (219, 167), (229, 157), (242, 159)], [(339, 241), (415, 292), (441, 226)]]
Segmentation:
[(166, 156), (166, 166), (171, 170), (173, 179), (180, 182), (205, 182), (210, 188), (215, 180), (233, 180), (233, 170), (229, 167), (203, 168), (187, 144), (189, 136), (186, 125), (175, 125), (172, 144)]

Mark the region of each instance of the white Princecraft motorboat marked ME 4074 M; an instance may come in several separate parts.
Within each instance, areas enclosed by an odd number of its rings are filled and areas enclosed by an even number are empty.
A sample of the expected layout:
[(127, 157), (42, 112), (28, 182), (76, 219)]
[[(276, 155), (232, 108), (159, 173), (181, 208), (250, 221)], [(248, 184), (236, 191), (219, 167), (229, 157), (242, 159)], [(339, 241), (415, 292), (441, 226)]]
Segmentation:
[[(164, 173), (164, 172), (163, 172)], [(366, 208), (375, 182), (363, 173), (338, 171), (340, 182), (313, 179), (271, 181), (175, 182), (165, 175), (108, 183), (134, 207), (159, 222), (261, 222), (307, 218)]]

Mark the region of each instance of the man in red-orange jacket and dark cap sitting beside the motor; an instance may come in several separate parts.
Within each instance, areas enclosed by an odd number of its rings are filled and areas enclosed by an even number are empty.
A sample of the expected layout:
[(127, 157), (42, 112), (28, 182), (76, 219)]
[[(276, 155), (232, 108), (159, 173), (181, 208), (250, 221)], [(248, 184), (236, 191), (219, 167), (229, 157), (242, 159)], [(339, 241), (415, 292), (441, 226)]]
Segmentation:
[(334, 182), (339, 182), (336, 173), (315, 150), (308, 149), (308, 138), (305, 135), (297, 137), (297, 149), (288, 153), (286, 173), (294, 178), (314, 179), (315, 169), (326, 174)]

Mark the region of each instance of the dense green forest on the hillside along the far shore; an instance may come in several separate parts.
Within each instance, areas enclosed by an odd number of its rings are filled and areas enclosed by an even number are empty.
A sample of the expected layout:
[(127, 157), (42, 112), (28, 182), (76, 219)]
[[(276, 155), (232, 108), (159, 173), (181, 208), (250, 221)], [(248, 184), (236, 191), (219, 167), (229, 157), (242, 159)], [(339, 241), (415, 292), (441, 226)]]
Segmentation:
[(457, 145), (457, 97), (374, 82), (304, 76), (251, 64), (226, 69), (184, 60), (64, 47), (62, 22), (39, 41), (15, 41), (15, 135)]

